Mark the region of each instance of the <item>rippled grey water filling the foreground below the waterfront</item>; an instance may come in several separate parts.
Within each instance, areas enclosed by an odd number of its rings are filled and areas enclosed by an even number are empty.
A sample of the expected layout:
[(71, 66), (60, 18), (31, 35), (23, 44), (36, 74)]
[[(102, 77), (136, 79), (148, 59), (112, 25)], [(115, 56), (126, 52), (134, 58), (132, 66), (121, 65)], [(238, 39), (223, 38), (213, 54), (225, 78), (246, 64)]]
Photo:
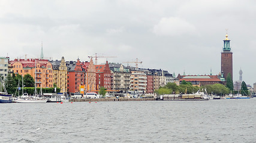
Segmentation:
[(0, 104), (0, 142), (256, 142), (256, 99)]

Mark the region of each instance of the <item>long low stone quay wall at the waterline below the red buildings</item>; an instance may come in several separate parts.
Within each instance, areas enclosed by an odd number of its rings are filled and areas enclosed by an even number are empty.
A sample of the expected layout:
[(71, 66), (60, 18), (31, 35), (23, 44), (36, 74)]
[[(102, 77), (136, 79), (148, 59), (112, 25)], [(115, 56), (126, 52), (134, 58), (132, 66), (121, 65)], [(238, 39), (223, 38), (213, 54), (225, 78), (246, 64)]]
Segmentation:
[(155, 98), (74, 98), (70, 102), (100, 102), (100, 101), (155, 101)]

